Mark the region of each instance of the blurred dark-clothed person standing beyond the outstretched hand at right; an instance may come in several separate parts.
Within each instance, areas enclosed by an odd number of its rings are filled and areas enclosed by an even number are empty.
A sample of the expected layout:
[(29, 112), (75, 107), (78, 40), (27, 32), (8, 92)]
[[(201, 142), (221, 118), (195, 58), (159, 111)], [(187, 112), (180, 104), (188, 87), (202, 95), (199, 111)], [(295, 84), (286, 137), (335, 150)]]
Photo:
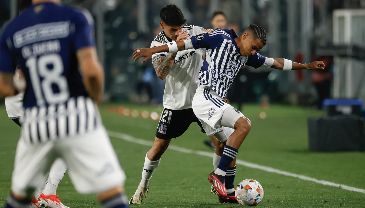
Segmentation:
[(316, 70), (312, 73), (312, 83), (314, 84), (314, 87), (318, 93), (316, 107), (318, 109), (322, 109), (323, 100), (330, 97), (333, 60), (332, 57), (328, 56), (320, 56), (315, 58), (323, 60), (323, 63), (326, 65), (324, 70)]

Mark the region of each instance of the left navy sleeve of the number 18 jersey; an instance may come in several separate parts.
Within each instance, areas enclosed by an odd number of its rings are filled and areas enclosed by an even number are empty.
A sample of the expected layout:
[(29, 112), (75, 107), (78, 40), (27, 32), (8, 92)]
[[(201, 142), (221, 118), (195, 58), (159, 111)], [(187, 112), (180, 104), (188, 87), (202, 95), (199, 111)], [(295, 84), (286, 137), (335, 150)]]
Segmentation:
[(16, 69), (16, 63), (13, 59), (11, 49), (12, 43), (10, 37), (6, 33), (6, 29), (0, 36), (0, 72), (14, 73)]

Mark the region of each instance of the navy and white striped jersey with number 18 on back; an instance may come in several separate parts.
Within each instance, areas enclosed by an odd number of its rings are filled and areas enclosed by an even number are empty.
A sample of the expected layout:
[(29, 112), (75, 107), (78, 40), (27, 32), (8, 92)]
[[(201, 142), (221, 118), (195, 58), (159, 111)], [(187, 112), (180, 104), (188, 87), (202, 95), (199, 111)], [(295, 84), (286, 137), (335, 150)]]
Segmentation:
[(86, 10), (34, 4), (10, 21), (0, 37), (1, 72), (19, 65), (27, 83), (22, 138), (30, 143), (73, 136), (101, 125), (78, 70), (76, 52), (93, 47)]

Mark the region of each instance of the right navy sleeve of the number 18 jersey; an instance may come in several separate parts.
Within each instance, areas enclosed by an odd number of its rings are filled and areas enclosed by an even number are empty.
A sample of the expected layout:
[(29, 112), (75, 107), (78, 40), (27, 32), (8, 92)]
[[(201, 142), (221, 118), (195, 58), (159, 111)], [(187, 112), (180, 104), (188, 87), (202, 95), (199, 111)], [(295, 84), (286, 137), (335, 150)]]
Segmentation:
[(74, 24), (74, 45), (76, 51), (81, 48), (95, 46), (94, 20), (86, 9), (77, 12), (74, 18)]

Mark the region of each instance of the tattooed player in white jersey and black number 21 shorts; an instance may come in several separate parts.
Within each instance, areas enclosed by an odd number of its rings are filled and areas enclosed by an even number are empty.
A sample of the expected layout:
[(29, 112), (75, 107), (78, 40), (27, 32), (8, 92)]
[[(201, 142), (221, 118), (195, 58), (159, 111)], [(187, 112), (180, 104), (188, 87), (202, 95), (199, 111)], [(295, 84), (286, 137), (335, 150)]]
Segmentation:
[[(183, 13), (174, 4), (163, 7), (160, 17), (160, 25), (164, 31), (155, 37), (151, 48), (170, 41), (185, 40), (206, 32), (202, 27), (186, 25)], [(192, 109), (192, 99), (197, 88), (196, 79), (199, 69), (203, 65), (202, 50), (189, 49), (174, 53), (156, 53), (152, 59), (157, 76), (160, 79), (166, 79), (164, 109), (161, 113), (154, 144), (145, 157), (141, 182), (132, 196), (130, 204), (141, 204), (143, 198), (146, 197), (152, 174), (160, 164), (161, 156), (168, 148), (171, 139), (181, 136), (193, 122), (201, 127), (201, 123)], [(201, 129), (204, 132), (202, 127)], [(227, 129), (218, 133), (216, 138), (211, 137), (216, 147), (213, 159), (215, 168), (218, 166), (224, 149), (221, 142), (226, 141), (231, 132), (233, 129)], [(234, 168), (231, 167), (231, 172), (234, 172)]]

